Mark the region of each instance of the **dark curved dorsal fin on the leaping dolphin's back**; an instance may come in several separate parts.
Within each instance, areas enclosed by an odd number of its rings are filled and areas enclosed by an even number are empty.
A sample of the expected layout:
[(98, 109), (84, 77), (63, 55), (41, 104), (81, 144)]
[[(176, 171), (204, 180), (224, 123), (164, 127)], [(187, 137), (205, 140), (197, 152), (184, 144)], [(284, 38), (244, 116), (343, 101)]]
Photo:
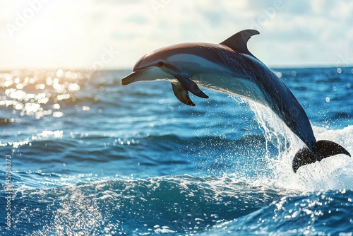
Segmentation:
[(236, 33), (235, 35), (228, 37), (227, 40), (221, 42), (220, 44), (228, 46), (232, 48), (234, 51), (246, 53), (253, 56), (253, 54), (249, 52), (249, 49), (246, 46), (246, 43), (251, 38), (251, 36), (258, 35), (258, 34), (259, 34), (258, 30), (242, 30)]

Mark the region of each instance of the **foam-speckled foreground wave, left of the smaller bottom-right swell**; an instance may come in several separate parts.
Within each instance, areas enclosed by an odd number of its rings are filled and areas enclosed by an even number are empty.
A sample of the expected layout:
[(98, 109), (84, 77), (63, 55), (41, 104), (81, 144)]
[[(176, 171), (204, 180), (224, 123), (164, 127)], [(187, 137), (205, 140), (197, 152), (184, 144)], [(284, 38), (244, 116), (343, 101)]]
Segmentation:
[(181, 175), (102, 179), (50, 189), (17, 189), (13, 194), (14, 222), (21, 222), (13, 230), (18, 232), (75, 234), (94, 229), (98, 234), (137, 235), (195, 233), (246, 216), (288, 192), (228, 177)]

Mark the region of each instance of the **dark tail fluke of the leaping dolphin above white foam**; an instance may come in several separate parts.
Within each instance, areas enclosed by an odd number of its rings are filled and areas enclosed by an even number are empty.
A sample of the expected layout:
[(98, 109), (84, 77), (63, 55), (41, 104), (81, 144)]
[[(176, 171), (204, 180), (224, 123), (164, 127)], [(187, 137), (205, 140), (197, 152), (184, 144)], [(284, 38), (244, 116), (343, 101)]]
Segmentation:
[(293, 171), (297, 172), (298, 168), (302, 165), (308, 165), (311, 163), (315, 163), (317, 161), (321, 161), (324, 158), (328, 158), (331, 155), (337, 154), (345, 154), (351, 156), (345, 148), (340, 146), (340, 144), (327, 141), (320, 140), (315, 143), (313, 146), (313, 151), (310, 151), (309, 148), (304, 147), (294, 156), (293, 158)]

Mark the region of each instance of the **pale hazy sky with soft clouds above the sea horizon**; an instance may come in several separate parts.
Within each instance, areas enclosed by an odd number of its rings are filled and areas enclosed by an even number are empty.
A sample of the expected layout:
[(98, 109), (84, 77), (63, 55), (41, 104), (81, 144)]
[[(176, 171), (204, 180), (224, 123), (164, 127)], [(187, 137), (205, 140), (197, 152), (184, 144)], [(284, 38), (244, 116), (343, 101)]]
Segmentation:
[(353, 1), (0, 0), (0, 69), (132, 69), (180, 42), (260, 31), (272, 68), (353, 65)]

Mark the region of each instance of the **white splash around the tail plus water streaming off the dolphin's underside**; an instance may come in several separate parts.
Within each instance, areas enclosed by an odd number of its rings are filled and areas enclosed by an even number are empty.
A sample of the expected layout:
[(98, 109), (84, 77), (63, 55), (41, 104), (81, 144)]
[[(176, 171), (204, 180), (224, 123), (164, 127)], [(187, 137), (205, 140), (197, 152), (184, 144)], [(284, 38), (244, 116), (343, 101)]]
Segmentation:
[[(347, 155), (335, 155), (321, 162), (300, 167), (295, 174), (292, 170), (294, 155), (304, 143), (285, 126), (268, 107), (248, 102), (263, 130), (266, 146), (272, 143), (278, 150), (277, 158), (270, 158), (271, 176), (259, 177), (253, 184), (266, 184), (298, 191), (319, 191), (328, 189), (353, 189), (353, 158)], [(326, 129), (313, 126), (317, 140), (329, 140), (339, 143), (353, 153), (353, 126), (344, 129)]]

